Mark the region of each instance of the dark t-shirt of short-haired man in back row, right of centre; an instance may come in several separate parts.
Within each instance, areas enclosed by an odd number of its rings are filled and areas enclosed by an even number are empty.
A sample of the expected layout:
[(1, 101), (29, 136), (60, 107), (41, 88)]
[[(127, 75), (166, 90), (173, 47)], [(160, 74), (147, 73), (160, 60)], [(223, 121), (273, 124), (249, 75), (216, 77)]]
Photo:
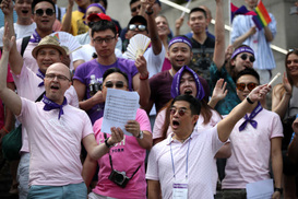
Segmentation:
[(189, 65), (207, 82), (210, 81), (210, 66), (213, 61), (215, 39), (207, 36), (203, 44), (198, 43), (194, 38), (190, 39), (192, 45), (192, 60)]

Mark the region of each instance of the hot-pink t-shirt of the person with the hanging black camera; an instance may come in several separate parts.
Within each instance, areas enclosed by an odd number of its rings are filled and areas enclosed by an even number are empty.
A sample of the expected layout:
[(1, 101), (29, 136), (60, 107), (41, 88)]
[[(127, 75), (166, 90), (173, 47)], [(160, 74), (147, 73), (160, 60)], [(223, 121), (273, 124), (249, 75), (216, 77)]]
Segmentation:
[[(140, 124), (141, 130), (151, 132), (151, 125), (146, 113), (143, 109), (138, 109), (135, 120)], [(96, 141), (105, 142), (102, 129), (103, 118), (95, 121), (93, 130), (95, 132)], [(109, 134), (107, 134), (109, 137)], [(124, 139), (110, 149), (112, 160), (112, 167), (119, 172), (126, 172), (128, 177), (141, 165), (132, 179), (128, 183), (126, 188), (121, 188), (108, 179), (111, 167), (109, 163), (109, 155), (106, 154), (98, 160), (99, 173), (98, 183), (93, 189), (93, 192), (121, 199), (141, 199), (146, 198), (146, 179), (145, 179), (145, 156), (146, 150), (139, 145), (136, 138), (126, 136)]]

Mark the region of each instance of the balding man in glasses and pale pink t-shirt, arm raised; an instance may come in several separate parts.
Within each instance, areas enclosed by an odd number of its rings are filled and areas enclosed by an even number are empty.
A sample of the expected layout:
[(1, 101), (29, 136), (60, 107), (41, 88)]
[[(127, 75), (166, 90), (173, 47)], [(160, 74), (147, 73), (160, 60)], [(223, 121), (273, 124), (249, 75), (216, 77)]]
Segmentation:
[[(46, 90), (43, 102), (34, 103), (7, 89), (8, 59), (10, 50), (15, 48), (15, 37), (9, 39), (7, 27), (0, 61), (0, 97), (28, 132), (32, 155), (27, 198), (86, 198), (87, 189), (81, 175), (81, 141), (94, 160), (107, 153), (109, 148), (105, 143), (97, 145), (87, 115), (68, 104), (64, 93), (71, 86), (71, 74), (65, 65), (58, 62), (48, 67), (43, 81)], [(48, 49), (52, 47), (50, 43), (44, 44), (49, 45)], [(33, 56), (38, 59), (43, 49), (47, 48), (37, 47)], [(64, 54), (60, 46), (52, 49)], [(111, 128), (107, 143), (112, 145), (122, 139), (123, 132)]]

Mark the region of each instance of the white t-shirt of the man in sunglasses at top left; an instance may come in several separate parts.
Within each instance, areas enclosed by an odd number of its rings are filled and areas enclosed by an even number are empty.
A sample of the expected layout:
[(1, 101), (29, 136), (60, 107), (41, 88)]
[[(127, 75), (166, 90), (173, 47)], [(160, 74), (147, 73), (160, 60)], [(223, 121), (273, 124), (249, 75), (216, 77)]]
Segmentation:
[[(13, 26), (14, 26), (14, 32), (15, 32), (16, 39), (17, 39), (17, 38), (31, 36), (33, 34), (34, 30), (36, 28), (36, 23), (33, 22), (29, 25), (20, 25), (17, 23), (14, 23)], [(4, 34), (4, 27), (1, 27), (0, 28), (0, 38), (1, 38), (0, 39), (0, 47), (3, 46), (3, 42), (2, 42), (3, 34)]]

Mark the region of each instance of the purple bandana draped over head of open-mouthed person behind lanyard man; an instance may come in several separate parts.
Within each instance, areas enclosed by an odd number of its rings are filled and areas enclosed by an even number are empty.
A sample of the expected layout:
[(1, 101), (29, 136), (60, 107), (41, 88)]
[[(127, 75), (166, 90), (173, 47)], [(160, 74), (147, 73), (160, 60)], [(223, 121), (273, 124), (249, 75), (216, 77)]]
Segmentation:
[(181, 80), (182, 73), (186, 70), (188, 72), (190, 72), (194, 78), (195, 85), (196, 85), (196, 96), (195, 96), (195, 98), (199, 98), (200, 101), (202, 101), (202, 98), (205, 96), (204, 89), (203, 89), (203, 86), (202, 86), (202, 84), (200, 82), (199, 75), (193, 70), (191, 70), (188, 66), (182, 67), (174, 75), (172, 83), (171, 83), (171, 90), (170, 90), (171, 97), (175, 98), (178, 95), (180, 95), (180, 80)]

